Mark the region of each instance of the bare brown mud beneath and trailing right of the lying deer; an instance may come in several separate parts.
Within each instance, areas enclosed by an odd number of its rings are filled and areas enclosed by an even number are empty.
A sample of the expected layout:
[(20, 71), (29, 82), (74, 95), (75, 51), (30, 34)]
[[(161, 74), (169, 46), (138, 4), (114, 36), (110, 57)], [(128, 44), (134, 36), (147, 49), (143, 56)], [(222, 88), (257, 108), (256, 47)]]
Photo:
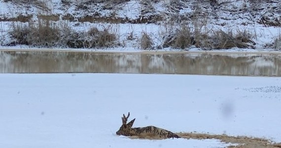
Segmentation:
[[(246, 136), (228, 136), (228, 135), (210, 135), (210, 134), (198, 134), (198, 133), (176, 133), (178, 136), (184, 139), (217, 139), (223, 143), (231, 143), (233, 145), (228, 148), (281, 148), (281, 143), (274, 143), (268, 139), (253, 138)], [(131, 139), (149, 139), (149, 140), (160, 140), (153, 139), (151, 137), (140, 138), (137, 136), (131, 136)]]

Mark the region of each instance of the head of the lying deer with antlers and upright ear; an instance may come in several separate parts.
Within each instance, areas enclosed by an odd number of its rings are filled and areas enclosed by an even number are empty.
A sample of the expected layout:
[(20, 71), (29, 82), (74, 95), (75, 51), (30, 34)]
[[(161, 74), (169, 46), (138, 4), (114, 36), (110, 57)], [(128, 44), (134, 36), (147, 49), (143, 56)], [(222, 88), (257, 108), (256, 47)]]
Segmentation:
[(125, 114), (123, 114), (122, 125), (121, 125), (120, 129), (116, 132), (117, 135), (131, 136), (130, 131), (132, 130), (132, 126), (133, 126), (136, 118), (127, 124), (127, 120), (129, 118), (129, 116), (130, 116), (130, 112), (128, 113), (127, 117), (125, 116)]

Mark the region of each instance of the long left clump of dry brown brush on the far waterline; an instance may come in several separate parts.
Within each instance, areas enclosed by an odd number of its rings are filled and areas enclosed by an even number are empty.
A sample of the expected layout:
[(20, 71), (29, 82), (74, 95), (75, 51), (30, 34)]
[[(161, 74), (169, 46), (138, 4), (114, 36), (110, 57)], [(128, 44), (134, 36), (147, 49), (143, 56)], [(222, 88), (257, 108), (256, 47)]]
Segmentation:
[(117, 39), (116, 32), (110, 26), (103, 30), (92, 27), (88, 32), (78, 32), (69, 25), (58, 26), (50, 21), (38, 21), (37, 24), (14, 23), (12, 29), (10, 35), (13, 43), (9, 44), (36, 47), (103, 48), (113, 46)]

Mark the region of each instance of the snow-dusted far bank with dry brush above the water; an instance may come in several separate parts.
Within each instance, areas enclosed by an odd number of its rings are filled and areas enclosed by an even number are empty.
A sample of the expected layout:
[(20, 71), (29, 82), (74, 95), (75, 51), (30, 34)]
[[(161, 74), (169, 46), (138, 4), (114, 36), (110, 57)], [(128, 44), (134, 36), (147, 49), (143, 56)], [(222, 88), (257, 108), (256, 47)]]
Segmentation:
[[(112, 43), (105, 44), (106, 48), (278, 50), (281, 47), (280, 8), (279, 0), (1, 0), (0, 44), (1, 48), (7, 48), (5, 45), (69, 48), (79, 44), (79, 48), (96, 50), (100, 46), (86, 44), (89, 37), (82, 37), (81, 33), (95, 27), (116, 35), (110, 40)], [(61, 30), (60, 36), (76, 37), (76, 40), (70, 40), (73, 44), (64, 44), (71, 39), (64, 37), (55, 40), (58, 43), (54, 46), (50, 46), (50, 42), (21, 46), (22, 42), (9, 34), (15, 26), (29, 26), (38, 21), (48, 21), (59, 28), (68, 26), (75, 35)], [(178, 40), (180, 37), (182, 40)], [(181, 46), (182, 41), (186, 43)]]

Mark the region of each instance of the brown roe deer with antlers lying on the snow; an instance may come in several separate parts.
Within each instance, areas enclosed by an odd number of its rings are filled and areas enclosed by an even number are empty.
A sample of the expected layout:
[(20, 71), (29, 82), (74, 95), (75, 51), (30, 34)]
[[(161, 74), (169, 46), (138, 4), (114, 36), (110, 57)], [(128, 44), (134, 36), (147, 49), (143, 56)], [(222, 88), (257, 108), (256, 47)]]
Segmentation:
[(135, 127), (133, 128), (133, 124), (135, 119), (127, 123), (127, 120), (130, 116), (130, 112), (127, 117), (123, 114), (122, 117), (122, 126), (116, 132), (117, 135), (123, 136), (137, 136), (139, 138), (152, 138), (152, 139), (167, 139), (167, 138), (180, 138), (175, 133), (172, 133), (168, 130), (158, 128), (155, 126), (146, 126), (146, 127)]

